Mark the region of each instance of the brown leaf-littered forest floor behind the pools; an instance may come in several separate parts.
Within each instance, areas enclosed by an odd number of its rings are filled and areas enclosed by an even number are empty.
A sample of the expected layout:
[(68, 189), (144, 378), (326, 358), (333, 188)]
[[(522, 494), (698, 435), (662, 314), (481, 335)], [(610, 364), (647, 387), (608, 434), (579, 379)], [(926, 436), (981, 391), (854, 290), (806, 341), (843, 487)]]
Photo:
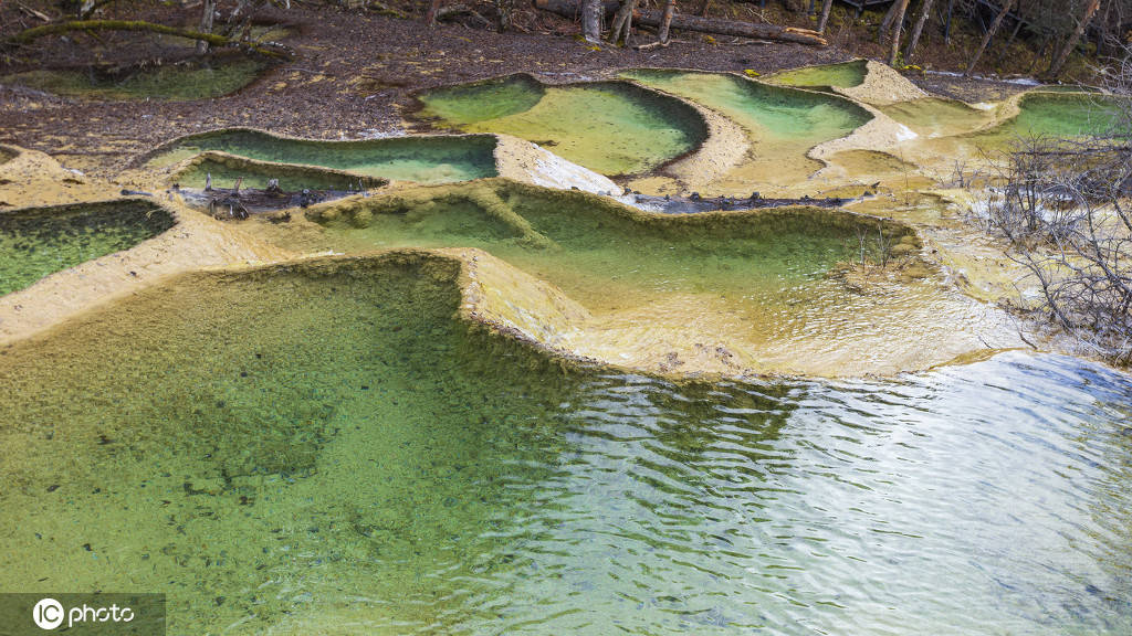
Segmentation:
[[(191, 24), (192, 15), (182, 14), (162, 17)], [(42, 151), (68, 167), (111, 177), (136, 155), (163, 141), (214, 128), (254, 127), (321, 139), (396, 135), (403, 126), (400, 113), (411, 104), (413, 93), (513, 72), (564, 83), (633, 67), (751, 69), (765, 75), (855, 57), (838, 46), (818, 49), (683, 33), (662, 49), (593, 48), (572, 37), (574, 27), (568, 20), (537, 11), (524, 17), (535, 20), (528, 25), (532, 33), (497, 33), (462, 24), (430, 29), (417, 19), (334, 8), (267, 10), (260, 19), (289, 27), (282, 42), (295, 57), (232, 95), (189, 102), (109, 102), (0, 84), (0, 143)], [(87, 37), (51, 42), (38, 52), (35, 63), (75, 63), (89, 54), (92, 41)], [(123, 51), (139, 54), (136, 46), (115, 46), (112, 41), (95, 45), (95, 57), (102, 63), (115, 61)], [(22, 69), (17, 62), (9, 65), (9, 70)], [(941, 76), (912, 79), (934, 92), (972, 101), (1022, 88)]]

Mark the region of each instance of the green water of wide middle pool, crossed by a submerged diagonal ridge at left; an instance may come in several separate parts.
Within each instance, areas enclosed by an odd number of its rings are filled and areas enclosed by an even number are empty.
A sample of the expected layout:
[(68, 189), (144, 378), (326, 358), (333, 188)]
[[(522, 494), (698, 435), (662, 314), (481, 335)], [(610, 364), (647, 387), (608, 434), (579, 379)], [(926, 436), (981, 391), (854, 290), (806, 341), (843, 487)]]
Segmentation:
[[(857, 227), (875, 232), (872, 221), (826, 210), (645, 222), (597, 197), (505, 182), (428, 194), (375, 197), (360, 213), (328, 209), (316, 216), (327, 234), (314, 249), (473, 247), (593, 309), (697, 295), (764, 316), (799, 296), (808, 306), (820, 302), (821, 290), (835, 293), (826, 272), (854, 258)], [(887, 232), (899, 241), (900, 230)], [(874, 251), (871, 244), (869, 257)]]

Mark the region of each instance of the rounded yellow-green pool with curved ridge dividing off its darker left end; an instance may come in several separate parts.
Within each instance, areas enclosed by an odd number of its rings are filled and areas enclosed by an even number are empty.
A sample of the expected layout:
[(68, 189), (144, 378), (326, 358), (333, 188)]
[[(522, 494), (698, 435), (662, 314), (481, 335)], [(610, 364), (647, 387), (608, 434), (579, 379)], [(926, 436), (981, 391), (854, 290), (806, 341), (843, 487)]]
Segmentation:
[(511, 76), (420, 96), (415, 114), (466, 132), (504, 132), (607, 175), (652, 170), (706, 138), (691, 106), (616, 81), (542, 86)]

